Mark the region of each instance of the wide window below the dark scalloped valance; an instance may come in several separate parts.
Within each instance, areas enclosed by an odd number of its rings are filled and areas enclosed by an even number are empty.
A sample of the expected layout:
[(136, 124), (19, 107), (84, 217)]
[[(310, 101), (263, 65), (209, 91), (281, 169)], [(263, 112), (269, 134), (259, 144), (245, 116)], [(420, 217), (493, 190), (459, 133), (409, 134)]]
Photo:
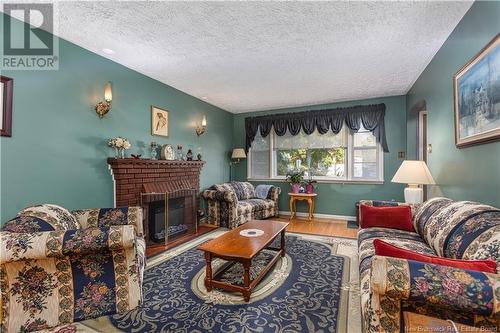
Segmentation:
[(381, 181), (382, 165), (381, 147), (364, 128), (353, 133), (343, 126), (338, 134), (295, 136), (271, 131), (265, 138), (257, 133), (252, 143), (248, 178), (284, 179), (291, 170), (303, 170), (306, 178), (310, 174), (319, 181)]

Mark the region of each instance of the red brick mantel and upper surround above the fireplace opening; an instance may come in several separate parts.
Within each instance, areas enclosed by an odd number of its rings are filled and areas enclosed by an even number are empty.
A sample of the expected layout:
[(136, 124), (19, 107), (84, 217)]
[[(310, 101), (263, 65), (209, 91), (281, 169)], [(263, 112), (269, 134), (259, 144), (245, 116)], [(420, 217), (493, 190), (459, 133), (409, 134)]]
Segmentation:
[(114, 182), (115, 207), (121, 207), (140, 205), (143, 184), (147, 183), (185, 181), (199, 193), (205, 161), (108, 158), (108, 164)]

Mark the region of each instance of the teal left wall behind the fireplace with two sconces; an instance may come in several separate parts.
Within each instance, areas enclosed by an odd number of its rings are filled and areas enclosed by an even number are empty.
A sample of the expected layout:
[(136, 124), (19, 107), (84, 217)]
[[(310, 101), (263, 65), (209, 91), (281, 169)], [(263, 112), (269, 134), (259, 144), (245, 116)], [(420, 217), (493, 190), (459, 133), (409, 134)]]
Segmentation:
[[(1, 221), (34, 203), (112, 206), (106, 143), (115, 136), (131, 141), (128, 154), (149, 156), (153, 139), (201, 150), (202, 188), (229, 179), (232, 114), (65, 40), (59, 56), (58, 71), (2, 72), (14, 79), (14, 106), (13, 136), (0, 139)], [(93, 106), (107, 81), (113, 108), (99, 119)], [(168, 138), (151, 136), (151, 105), (170, 111)], [(208, 129), (198, 138), (194, 127), (203, 115)]]

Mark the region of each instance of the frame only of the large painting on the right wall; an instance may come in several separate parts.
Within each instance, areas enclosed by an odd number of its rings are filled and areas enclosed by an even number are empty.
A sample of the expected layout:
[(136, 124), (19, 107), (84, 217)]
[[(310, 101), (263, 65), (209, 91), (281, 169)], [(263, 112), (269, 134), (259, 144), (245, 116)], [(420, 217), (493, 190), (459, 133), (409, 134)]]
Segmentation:
[(461, 76), (463, 72), (469, 67), (473, 62), (475, 62), (479, 57), (481, 57), (493, 44), (498, 42), (500, 39), (500, 33), (498, 33), (488, 44), (486, 44), (485, 47), (481, 49), (472, 59), (470, 59), (462, 68), (460, 68), (455, 75), (453, 75), (453, 107), (454, 107), (454, 120), (455, 120), (455, 145), (457, 148), (465, 148), (465, 147), (470, 147), (470, 146), (475, 146), (479, 144), (484, 144), (484, 143), (491, 143), (494, 141), (499, 141), (500, 140), (500, 133), (495, 134), (493, 136), (489, 137), (483, 137), (483, 138), (478, 138), (478, 139), (471, 139), (470, 141), (466, 142), (459, 142), (460, 141), (460, 135), (459, 135), (459, 120), (458, 119), (458, 76)]

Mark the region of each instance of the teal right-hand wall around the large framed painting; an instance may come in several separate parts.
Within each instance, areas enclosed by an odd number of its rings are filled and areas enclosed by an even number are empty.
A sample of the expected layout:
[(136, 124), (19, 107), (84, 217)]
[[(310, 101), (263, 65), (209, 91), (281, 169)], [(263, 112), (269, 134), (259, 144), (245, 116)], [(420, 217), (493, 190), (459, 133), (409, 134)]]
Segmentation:
[(455, 147), (453, 75), (500, 32), (500, 2), (478, 1), (443, 44), (407, 95), (407, 150), (416, 156), (417, 115), (411, 111), (425, 100), (428, 164), (436, 186), (430, 196), (475, 200), (500, 206), (500, 142)]

